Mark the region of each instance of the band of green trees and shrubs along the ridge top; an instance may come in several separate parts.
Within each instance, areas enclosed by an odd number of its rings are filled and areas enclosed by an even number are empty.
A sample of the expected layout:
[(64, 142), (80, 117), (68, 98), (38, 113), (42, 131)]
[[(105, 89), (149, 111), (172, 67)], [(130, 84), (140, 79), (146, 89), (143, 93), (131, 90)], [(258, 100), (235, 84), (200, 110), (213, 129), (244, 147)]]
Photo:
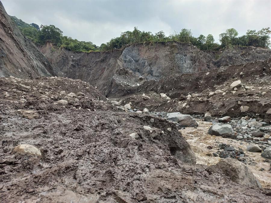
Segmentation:
[(12, 17), (18, 28), (23, 34), (30, 38), (37, 45), (44, 45), (45, 42), (51, 41), (58, 47), (66, 48), (75, 52), (90, 52), (90, 51), (112, 51), (114, 49), (124, 48), (127, 45), (137, 43), (157, 43), (157, 42), (181, 42), (191, 43), (201, 50), (215, 50), (229, 46), (254, 46), (268, 48), (270, 46), (270, 28), (263, 28), (256, 32), (256, 30), (248, 30), (248, 32), (238, 37), (238, 32), (234, 28), (227, 29), (219, 35), (220, 43), (214, 42), (213, 35), (207, 36), (199, 35), (194, 37), (190, 29), (182, 29), (181, 32), (175, 32), (166, 36), (163, 31), (155, 34), (151, 32), (140, 31), (134, 27), (133, 31), (122, 32), (119, 37), (112, 38), (109, 42), (101, 44), (100, 47), (94, 45), (92, 42), (78, 41), (71, 37), (63, 36), (63, 32), (54, 25), (39, 26), (32, 23), (28, 24)]

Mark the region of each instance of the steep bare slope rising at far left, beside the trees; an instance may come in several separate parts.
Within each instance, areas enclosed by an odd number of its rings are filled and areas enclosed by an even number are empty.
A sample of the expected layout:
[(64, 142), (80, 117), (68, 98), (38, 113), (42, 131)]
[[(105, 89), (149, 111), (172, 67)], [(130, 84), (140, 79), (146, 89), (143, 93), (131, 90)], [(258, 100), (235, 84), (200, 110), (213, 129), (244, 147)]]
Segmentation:
[(53, 74), (49, 61), (22, 35), (0, 2), (0, 77), (35, 78)]

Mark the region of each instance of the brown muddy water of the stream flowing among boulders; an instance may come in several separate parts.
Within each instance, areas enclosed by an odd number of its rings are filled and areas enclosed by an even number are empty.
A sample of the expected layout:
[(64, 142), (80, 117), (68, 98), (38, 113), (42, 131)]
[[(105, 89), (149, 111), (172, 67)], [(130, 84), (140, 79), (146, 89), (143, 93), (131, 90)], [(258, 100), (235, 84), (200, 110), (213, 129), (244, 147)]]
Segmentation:
[[(245, 157), (251, 159), (253, 164), (247, 164), (248, 168), (252, 173), (257, 177), (263, 187), (271, 189), (271, 171), (270, 164), (268, 162), (263, 162), (264, 158), (261, 157), (261, 153), (257, 152), (246, 152), (246, 148), (249, 143), (233, 140), (230, 138), (217, 137), (207, 134), (208, 129), (212, 125), (210, 122), (204, 122), (201, 120), (198, 121), (198, 128), (185, 128), (179, 130), (188, 143), (191, 145), (197, 157), (197, 164), (203, 165), (214, 165), (221, 158), (214, 157), (213, 152), (218, 151), (218, 145), (220, 143), (226, 143), (235, 148), (243, 149)], [(213, 149), (207, 149), (207, 146), (213, 146)], [(264, 168), (264, 171), (259, 171), (261, 168)]]

